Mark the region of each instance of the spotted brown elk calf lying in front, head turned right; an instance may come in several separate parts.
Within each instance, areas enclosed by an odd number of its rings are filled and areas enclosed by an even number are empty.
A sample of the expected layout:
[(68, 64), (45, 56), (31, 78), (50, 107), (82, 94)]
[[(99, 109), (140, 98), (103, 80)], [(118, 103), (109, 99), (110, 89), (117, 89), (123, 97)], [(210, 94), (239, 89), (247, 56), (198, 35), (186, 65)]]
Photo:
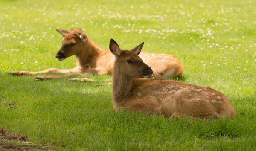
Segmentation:
[(120, 50), (111, 39), (110, 50), (116, 56), (113, 68), (113, 107), (116, 110), (141, 111), (192, 119), (236, 115), (224, 94), (210, 88), (166, 79), (146, 79), (154, 71), (138, 56), (143, 44), (131, 51)]

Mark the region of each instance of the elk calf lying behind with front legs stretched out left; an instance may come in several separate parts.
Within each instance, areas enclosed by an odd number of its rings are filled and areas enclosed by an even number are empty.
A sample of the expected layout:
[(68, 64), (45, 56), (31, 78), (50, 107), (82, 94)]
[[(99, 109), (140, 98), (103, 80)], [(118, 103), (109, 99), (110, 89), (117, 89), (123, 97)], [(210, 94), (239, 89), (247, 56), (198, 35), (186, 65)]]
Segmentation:
[[(61, 78), (76, 74), (112, 74), (113, 62), (115, 57), (107, 50), (101, 49), (91, 41), (88, 36), (81, 30), (59, 30), (56, 29), (64, 39), (62, 47), (56, 54), (56, 58), (60, 61), (72, 55), (76, 55), (76, 65), (74, 69), (56, 69), (51, 68), (39, 72), (15, 71), (10, 72), (11, 75), (37, 75), (44, 73), (69, 73), (64, 76), (40, 76), (38, 80), (46, 80), (51, 78)], [(153, 75), (157, 77), (172, 78), (183, 73), (183, 67), (180, 61), (173, 55), (167, 54), (151, 54), (142, 53), (140, 57), (153, 69)], [(87, 78), (72, 79), (77, 81), (94, 81)]]

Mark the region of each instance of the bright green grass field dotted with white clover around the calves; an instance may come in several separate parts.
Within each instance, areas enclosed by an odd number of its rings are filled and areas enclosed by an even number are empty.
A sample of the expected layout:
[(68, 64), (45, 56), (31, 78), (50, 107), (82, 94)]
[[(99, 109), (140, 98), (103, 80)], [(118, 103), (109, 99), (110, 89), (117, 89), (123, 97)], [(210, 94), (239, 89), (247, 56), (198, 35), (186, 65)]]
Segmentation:
[[(0, 103), (0, 128), (65, 143), (60, 150), (256, 150), (256, 1), (0, 0), (0, 12), (0, 102), (12, 103)], [(144, 52), (173, 54), (185, 70), (175, 80), (221, 91), (237, 116), (202, 123), (116, 113), (112, 87), (95, 86), (102, 81), (7, 75), (75, 67), (74, 57), (55, 58), (63, 38), (55, 29), (84, 29), (104, 49), (113, 38), (121, 49), (144, 41)]]

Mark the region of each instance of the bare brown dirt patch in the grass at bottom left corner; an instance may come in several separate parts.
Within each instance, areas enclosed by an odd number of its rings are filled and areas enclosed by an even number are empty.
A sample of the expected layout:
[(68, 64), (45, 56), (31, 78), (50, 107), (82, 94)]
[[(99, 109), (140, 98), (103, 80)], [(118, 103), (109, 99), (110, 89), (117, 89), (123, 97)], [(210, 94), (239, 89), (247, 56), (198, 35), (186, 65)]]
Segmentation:
[(26, 137), (6, 132), (0, 128), (0, 151), (52, 151), (57, 149), (58, 146), (44, 146), (27, 141)]

